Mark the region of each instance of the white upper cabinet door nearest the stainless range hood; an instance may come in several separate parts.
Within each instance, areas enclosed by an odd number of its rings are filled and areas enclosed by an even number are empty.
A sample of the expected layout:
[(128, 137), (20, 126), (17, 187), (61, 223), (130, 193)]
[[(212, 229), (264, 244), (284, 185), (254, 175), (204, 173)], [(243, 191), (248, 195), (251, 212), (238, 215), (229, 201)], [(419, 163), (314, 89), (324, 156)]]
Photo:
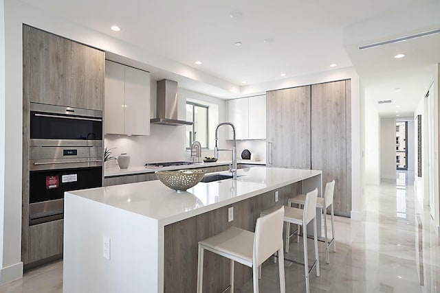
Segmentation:
[(125, 134), (150, 134), (150, 73), (125, 67)]

